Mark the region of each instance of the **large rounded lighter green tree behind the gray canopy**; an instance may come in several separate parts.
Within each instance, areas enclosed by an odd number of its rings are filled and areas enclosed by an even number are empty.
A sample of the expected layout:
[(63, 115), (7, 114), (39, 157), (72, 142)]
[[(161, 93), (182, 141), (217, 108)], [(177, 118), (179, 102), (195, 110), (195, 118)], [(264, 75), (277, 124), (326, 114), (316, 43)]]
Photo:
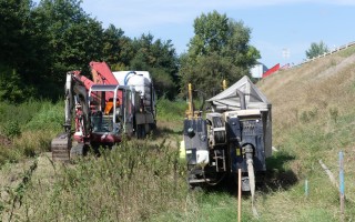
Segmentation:
[(222, 80), (234, 83), (260, 59), (256, 48), (248, 44), (251, 29), (242, 21), (229, 19), (216, 11), (202, 13), (194, 20), (194, 37), (187, 53), (180, 57), (181, 87), (212, 95), (222, 89)]

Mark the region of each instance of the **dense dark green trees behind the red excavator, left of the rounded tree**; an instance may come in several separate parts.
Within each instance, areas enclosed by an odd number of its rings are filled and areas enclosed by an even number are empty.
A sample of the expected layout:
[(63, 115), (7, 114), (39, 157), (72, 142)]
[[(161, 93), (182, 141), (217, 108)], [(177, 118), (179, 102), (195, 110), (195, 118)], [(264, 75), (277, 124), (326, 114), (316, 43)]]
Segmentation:
[(150, 71), (159, 95), (176, 95), (178, 59), (170, 40), (153, 40), (152, 34), (132, 40), (113, 24), (103, 29), (81, 3), (0, 0), (0, 98), (57, 100), (65, 72), (90, 75), (90, 61), (105, 61), (113, 70)]

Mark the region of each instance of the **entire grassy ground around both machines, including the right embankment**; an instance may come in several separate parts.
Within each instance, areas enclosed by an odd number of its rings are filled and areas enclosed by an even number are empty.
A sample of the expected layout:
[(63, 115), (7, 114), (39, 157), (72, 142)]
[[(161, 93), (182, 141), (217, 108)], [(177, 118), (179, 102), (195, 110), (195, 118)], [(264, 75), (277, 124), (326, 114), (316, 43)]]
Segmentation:
[[(266, 182), (256, 192), (260, 218), (243, 194), (242, 221), (339, 221), (344, 152), (345, 221), (355, 220), (355, 49), (277, 72), (257, 83), (273, 104)], [(236, 221), (234, 184), (189, 191), (179, 159), (185, 101), (158, 102), (158, 131), (144, 141), (52, 163), (63, 104), (0, 104), (0, 221)], [(305, 181), (308, 195), (305, 194)]]

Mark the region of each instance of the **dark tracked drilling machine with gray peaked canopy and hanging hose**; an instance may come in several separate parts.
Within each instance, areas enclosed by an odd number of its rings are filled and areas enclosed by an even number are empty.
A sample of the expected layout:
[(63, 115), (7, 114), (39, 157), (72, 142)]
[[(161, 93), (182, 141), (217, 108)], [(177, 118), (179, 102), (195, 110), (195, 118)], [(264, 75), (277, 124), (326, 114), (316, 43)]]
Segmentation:
[(247, 77), (206, 100), (212, 112), (205, 118), (193, 110), (191, 85), (189, 98), (183, 129), (189, 183), (215, 185), (242, 169), (242, 190), (254, 192), (255, 173), (266, 171), (272, 154), (271, 103)]

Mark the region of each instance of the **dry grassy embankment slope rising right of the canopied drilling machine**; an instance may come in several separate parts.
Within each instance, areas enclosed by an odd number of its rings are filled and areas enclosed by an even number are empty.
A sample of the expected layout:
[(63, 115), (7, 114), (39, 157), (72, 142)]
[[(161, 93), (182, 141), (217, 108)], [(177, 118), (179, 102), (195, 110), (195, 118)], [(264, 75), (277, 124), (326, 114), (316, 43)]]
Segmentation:
[(273, 144), (278, 149), (274, 159), (284, 159), (283, 170), (297, 178), (288, 191), (281, 186), (281, 192), (264, 196), (266, 221), (267, 215), (281, 221), (338, 221), (338, 191), (318, 161), (337, 179), (339, 151), (345, 154), (346, 219), (354, 220), (355, 48), (280, 71), (258, 87), (273, 103)]

